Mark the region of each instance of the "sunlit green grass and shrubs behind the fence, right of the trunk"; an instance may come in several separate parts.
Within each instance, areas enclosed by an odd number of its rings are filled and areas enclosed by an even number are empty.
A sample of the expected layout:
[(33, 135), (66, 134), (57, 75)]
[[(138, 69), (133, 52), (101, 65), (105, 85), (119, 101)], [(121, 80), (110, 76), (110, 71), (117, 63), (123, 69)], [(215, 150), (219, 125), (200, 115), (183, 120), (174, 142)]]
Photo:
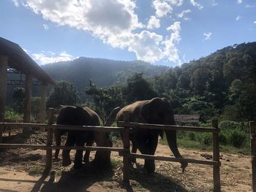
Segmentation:
[[(202, 125), (200, 125), (202, 126)], [(205, 124), (203, 126), (208, 126)], [(249, 128), (248, 123), (237, 123), (235, 121), (224, 120), (219, 123), (220, 134), (219, 143), (222, 151), (233, 151), (239, 153), (249, 153)], [(178, 146), (186, 148), (199, 148), (201, 150), (212, 149), (212, 134), (193, 131), (177, 132)], [(167, 145), (164, 137), (160, 143)]]

